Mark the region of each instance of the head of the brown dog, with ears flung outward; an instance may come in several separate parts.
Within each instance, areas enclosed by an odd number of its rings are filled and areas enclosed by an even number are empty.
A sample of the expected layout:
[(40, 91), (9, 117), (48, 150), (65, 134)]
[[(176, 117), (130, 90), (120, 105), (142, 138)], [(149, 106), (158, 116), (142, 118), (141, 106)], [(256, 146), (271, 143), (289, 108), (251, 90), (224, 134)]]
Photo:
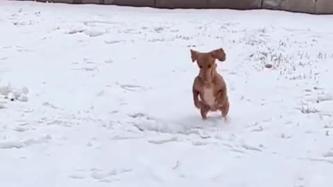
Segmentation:
[(205, 82), (211, 82), (216, 71), (215, 60), (217, 59), (221, 62), (225, 61), (225, 52), (223, 51), (223, 48), (215, 49), (209, 53), (200, 53), (192, 49), (190, 49), (190, 51), (192, 62), (196, 62), (200, 68), (200, 78)]

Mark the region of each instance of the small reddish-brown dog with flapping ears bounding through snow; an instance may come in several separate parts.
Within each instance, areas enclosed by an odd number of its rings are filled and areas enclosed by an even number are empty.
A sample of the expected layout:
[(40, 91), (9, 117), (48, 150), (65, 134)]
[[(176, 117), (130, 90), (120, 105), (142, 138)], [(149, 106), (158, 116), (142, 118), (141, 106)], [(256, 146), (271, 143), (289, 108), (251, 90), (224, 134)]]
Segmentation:
[(194, 105), (200, 109), (203, 120), (207, 119), (208, 112), (217, 110), (221, 111), (226, 120), (229, 112), (227, 86), (222, 76), (217, 73), (215, 64), (216, 59), (225, 61), (225, 52), (222, 48), (209, 53), (200, 53), (192, 49), (190, 51), (192, 62), (197, 62), (200, 68), (192, 87)]

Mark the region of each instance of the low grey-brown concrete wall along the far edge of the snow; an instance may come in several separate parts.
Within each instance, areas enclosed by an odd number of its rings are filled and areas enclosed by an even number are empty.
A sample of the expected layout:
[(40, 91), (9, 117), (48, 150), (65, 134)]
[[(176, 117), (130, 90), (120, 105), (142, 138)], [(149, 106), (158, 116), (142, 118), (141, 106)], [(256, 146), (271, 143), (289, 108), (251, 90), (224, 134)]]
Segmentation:
[(155, 8), (271, 9), (310, 14), (333, 14), (333, 0), (35, 0), (53, 3), (96, 3)]

